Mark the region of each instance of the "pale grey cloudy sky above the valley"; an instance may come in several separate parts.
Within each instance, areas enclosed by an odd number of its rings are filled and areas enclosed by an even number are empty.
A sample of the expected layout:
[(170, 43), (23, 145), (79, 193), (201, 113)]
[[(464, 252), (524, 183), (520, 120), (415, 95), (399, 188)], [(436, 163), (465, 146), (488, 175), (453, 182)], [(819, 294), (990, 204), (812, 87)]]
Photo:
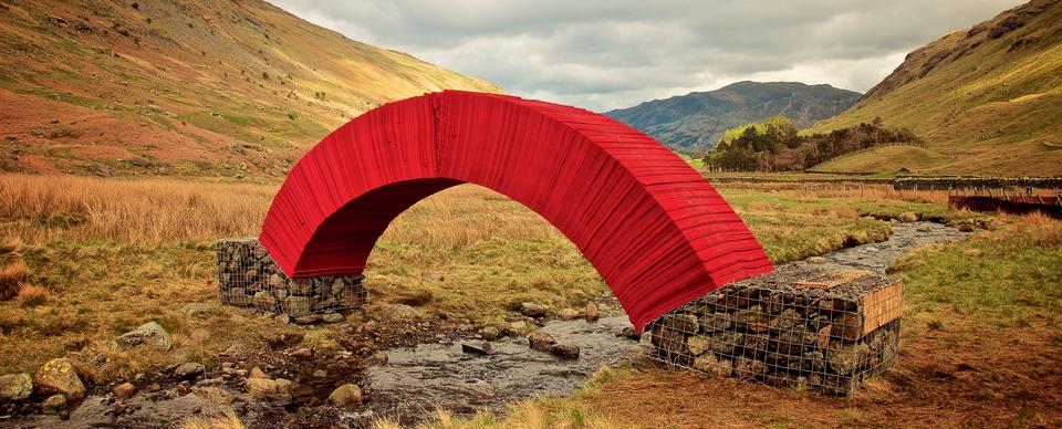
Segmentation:
[(593, 111), (751, 81), (864, 92), (1016, 0), (272, 0), (351, 39)]

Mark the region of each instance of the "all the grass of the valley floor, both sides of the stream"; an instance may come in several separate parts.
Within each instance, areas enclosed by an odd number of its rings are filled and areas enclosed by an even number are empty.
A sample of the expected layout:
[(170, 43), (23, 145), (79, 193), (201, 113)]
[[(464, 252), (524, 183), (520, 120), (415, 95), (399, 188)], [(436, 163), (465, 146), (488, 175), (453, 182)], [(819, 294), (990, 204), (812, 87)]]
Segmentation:
[[(948, 211), (931, 192), (777, 188), (720, 188), (777, 262), (883, 240), (891, 223), (863, 214), (979, 217)], [(216, 301), (214, 240), (257, 233), (275, 189), (0, 176), (0, 292), (7, 287), (12, 295), (0, 301), (0, 373), (32, 370), (64, 354), (85, 362), (104, 353), (106, 365), (86, 372), (94, 383), (106, 383), (180, 356), (209, 364), (233, 343), (254, 347), (270, 335), (304, 332), (231, 307), (217, 306), (199, 318), (181, 314), (186, 303)], [(1062, 226), (1043, 218), (991, 220), (993, 231), (897, 262), (908, 285), (904, 355), (895, 370), (856, 398), (735, 389), (729, 380), (620, 368), (601, 372), (571, 397), (514, 405), (504, 418), (469, 422), (442, 412), (437, 426), (1051, 421), (1050, 407), (1062, 406), (1059, 370), (1045, 364), (1056, 362), (1051, 356), (1062, 345), (1062, 274), (1055, 266), (1062, 260)], [(521, 301), (555, 311), (607, 293), (563, 234), (523, 206), (475, 186), (440, 192), (403, 213), (374, 250), (366, 276), (376, 304), (410, 303), (429, 317), (469, 318), (476, 325), (501, 323)], [(360, 317), (372, 316), (371, 306)], [(175, 334), (174, 350), (118, 353), (106, 346), (148, 321)]]

